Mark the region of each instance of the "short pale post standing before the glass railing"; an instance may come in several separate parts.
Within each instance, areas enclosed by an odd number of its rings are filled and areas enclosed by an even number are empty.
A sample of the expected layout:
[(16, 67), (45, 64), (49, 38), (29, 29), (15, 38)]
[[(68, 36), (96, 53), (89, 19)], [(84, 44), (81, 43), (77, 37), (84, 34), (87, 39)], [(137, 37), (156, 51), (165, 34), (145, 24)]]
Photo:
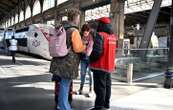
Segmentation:
[(127, 70), (127, 83), (129, 85), (132, 85), (132, 82), (133, 82), (133, 64), (129, 64)]

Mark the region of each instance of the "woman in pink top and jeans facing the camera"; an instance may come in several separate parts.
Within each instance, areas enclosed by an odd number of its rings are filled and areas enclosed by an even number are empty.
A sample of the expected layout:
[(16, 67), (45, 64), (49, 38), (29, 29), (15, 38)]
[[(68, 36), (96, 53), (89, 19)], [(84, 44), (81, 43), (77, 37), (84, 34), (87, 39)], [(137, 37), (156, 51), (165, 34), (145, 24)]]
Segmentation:
[[(81, 76), (81, 84), (80, 84), (80, 89), (79, 89), (79, 94), (83, 94), (83, 86), (85, 83), (85, 77), (86, 73), (89, 75), (89, 94), (92, 92), (92, 74), (89, 68), (89, 56), (92, 52), (92, 46), (93, 46), (93, 38), (90, 33), (90, 26), (89, 24), (84, 24), (81, 29), (81, 36), (82, 36), (82, 41), (86, 45), (85, 52), (81, 54), (81, 71), (80, 71), (80, 76)], [(88, 69), (88, 71), (87, 71)]]

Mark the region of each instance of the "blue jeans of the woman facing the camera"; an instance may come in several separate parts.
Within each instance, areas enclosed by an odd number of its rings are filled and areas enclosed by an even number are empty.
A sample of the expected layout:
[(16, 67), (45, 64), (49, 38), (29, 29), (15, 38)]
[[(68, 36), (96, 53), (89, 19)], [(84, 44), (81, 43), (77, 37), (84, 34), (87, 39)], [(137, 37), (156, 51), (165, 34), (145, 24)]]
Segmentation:
[[(90, 71), (88, 65), (89, 65), (89, 62), (87, 60), (81, 60), (81, 72), (80, 72), (81, 86), (84, 85), (86, 73), (88, 73), (88, 75), (89, 75), (89, 85), (91, 87), (92, 86), (92, 75), (91, 75), (91, 71)], [(88, 68), (88, 71), (87, 71), (87, 68)]]

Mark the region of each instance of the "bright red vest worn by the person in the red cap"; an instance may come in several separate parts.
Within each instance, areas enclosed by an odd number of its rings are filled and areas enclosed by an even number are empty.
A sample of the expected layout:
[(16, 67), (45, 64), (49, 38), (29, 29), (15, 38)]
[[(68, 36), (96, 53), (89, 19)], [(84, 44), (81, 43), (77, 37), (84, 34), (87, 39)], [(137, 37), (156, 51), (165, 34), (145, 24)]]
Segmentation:
[(116, 36), (99, 32), (104, 39), (104, 51), (99, 60), (90, 64), (90, 68), (112, 73), (115, 70)]

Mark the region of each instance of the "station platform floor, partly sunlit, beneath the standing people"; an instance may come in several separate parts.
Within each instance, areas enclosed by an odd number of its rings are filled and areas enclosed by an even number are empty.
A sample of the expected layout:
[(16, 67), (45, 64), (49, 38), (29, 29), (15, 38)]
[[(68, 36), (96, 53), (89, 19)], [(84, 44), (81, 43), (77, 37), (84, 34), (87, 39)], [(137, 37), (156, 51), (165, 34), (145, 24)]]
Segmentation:
[[(0, 110), (54, 110), (54, 83), (48, 72), (50, 61), (17, 54), (16, 64), (10, 56), (0, 55)], [(114, 77), (114, 75), (112, 75)], [(111, 110), (172, 110), (173, 90), (162, 88), (161, 76), (129, 86), (113, 78)], [(74, 80), (74, 91), (80, 80)], [(84, 92), (87, 92), (87, 84)], [(88, 110), (95, 95), (73, 95), (73, 110)]]

